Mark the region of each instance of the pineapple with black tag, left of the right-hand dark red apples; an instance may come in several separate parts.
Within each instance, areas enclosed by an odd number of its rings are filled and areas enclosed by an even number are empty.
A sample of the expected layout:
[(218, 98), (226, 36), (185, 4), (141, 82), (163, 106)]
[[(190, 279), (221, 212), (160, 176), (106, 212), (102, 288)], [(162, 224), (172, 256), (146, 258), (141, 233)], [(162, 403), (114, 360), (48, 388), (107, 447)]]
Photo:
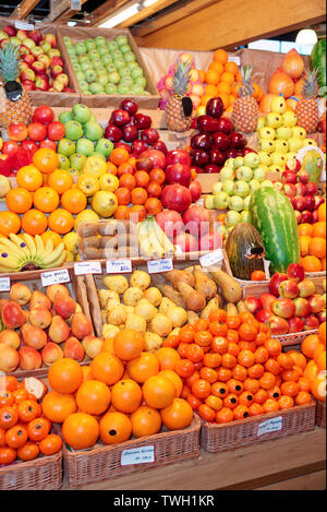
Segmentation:
[(169, 130), (183, 132), (190, 129), (193, 104), (186, 96), (190, 84), (190, 71), (193, 62), (178, 60), (173, 76), (172, 96), (166, 107), (166, 121)]

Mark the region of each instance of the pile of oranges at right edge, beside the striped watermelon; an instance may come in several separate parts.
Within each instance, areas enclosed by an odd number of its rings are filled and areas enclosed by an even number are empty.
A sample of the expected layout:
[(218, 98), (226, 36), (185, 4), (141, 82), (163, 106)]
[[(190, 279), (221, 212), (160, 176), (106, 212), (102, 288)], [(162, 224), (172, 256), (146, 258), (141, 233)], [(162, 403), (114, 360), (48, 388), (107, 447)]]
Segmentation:
[[(324, 218), (324, 221), (323, 221)], [(326, 211), (325, 204), (318, 209), (318, 222), (299, 224), (300, 263), (305, 272), (326, 271)]]

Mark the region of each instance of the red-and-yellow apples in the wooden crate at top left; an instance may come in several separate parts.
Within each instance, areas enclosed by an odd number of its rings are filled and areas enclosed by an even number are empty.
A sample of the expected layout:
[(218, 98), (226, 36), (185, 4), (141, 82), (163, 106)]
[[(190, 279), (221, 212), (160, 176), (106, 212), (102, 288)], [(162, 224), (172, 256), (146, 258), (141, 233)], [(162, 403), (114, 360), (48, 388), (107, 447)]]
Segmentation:
[(0, 47), (10, 40), (19, 46), (22, 56), (20, 80), (27, 91), (73, 93), (70, 79), (63, 70), (61, 52), (55, 34), (43, 35), (40, 31), (22, 31), (8, 25), (0, 31)]

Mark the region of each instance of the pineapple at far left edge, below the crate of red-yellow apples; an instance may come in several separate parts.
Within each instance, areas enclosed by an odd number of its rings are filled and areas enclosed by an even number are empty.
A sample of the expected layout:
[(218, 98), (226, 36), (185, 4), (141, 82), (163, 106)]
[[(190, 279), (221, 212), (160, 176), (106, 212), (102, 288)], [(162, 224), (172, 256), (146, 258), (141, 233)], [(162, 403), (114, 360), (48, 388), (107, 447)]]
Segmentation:
[(0, 126), (5, 129), (11, 122), (28, 124), (32, 118), (27, 91), (17, 82), (20, 61), (17, 46), (0, 48)]

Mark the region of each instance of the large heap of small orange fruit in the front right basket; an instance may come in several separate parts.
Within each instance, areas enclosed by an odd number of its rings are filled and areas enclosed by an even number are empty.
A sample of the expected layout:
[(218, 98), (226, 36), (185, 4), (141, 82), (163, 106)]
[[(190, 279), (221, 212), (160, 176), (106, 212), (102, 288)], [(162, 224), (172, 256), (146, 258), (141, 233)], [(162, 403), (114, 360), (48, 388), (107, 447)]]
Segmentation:
[(225, 424), (312, 401), (305, 355), (283, 353), (250, 312), (215, 310), (164, 346), (180, 356), (172, 369), (183, 379), (182, 396), (207, 421)]

